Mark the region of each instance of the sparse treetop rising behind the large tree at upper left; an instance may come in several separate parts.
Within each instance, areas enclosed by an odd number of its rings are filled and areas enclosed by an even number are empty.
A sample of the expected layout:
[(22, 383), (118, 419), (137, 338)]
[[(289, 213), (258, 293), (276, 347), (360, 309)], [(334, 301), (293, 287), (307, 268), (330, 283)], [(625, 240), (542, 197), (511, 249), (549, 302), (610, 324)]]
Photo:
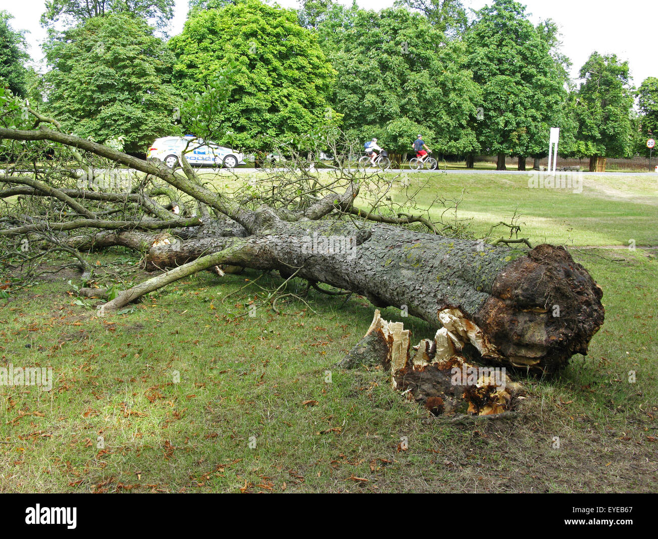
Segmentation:
[(92, 17), (126, 13), (164, 28), (174, 16), (176, 0), (46, 0), (41, 24), (72, 26)]

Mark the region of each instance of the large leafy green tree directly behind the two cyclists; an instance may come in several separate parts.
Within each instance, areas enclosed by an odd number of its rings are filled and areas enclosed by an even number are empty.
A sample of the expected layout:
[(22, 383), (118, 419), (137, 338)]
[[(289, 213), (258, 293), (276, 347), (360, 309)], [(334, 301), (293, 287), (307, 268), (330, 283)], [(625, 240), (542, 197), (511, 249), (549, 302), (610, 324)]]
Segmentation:
[(375, 13), (341, 5), (330, 7), (318, 36), (338, 71), (331, 101), (345, 115), (349, 136), (363, 141), (379, 134), (385, 141), (394, 127), (405, 136), (389, 141), (398, 151), (407, 151), (418, 133), (431, 133), (428, 143), (443, 153), (476, 149), (468, 122), (478, 87), (464, 67), (461, 41), (446, 39), (406, 9)]

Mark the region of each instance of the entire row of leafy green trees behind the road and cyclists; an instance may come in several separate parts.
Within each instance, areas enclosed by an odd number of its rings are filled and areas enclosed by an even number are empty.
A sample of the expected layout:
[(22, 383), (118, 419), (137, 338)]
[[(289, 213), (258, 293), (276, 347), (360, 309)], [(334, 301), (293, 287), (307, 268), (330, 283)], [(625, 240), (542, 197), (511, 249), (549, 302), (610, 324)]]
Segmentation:
[[(627, 61), (593, 52), (576, 84), (555, 21), (534, 25), (513, 0), (472, 14), (459, 0), (398, 0), (378, 12), (332, 0), (296, 10), (191, 0), (182, 32), (167, 36), (173, 5), (47, 0), (44, 74), (26, 68), (24, 36), (0, 13), (0, 77), (69, 132), (132, 152), (200, 114), (215, 141), (240, 149), (330, 125), (399, 153), (422, 134), (471, 166), (484, 154), (498, 168), (519, 157), (521, 169), (546, 155), (550, 127), (569, 157), (647, 155), (658, 128), (658, 78), (636, 89)], [(212, 91), (226, 105), (194, 107)]]

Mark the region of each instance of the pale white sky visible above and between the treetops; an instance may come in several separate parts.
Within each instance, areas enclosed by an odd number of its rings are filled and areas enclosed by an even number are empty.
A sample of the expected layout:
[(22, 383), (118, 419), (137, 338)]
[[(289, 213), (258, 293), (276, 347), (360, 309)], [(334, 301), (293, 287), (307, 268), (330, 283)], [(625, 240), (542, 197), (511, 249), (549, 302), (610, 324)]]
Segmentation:
[[(365, 9), (382, 9), (393, 5), (393, 0), (357, 0)], [(297, 7), (297, 0), (278, 0), (283, 7)], [(351, 4), (351, 0), (342, 0)], [(466, 7), (480, 9), (486, 0), (463, 0)], [(572, 76), (593, 51), (615, 53), (628, 60), (635, 86), (647, 76), (658, 77), (658, 7), (653, 0), (525, 0), (532, 22), (545, 18), (557, 22), (562, 32), (563, 53), (572, 61)], [(13, 14), (14, 30), (28, 30), (32, 59), (39, 62), (42, 55), (39, 43), (45, 32), (39, 25), (44, 0), (0, 0), (0, 9)], [(180, 33), (188, 12), (188, 0), (176, 0), (176, 16), (170, 34)]]

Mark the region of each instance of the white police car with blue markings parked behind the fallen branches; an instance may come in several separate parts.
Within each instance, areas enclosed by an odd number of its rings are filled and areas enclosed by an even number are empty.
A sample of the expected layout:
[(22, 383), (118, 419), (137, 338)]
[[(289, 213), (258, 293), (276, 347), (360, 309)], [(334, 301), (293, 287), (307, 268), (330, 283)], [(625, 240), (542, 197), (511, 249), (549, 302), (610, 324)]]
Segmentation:
[(230, 148), (220, 146), (211, 141), (204, 141), (193, 135), (184, 137), (163, 137), (157, 139), (147, 153), (147, 159), (161, 159), (164, 164), (173, 168), (178, 163), (178, 157), (185, 152), (190, 165), (200, 167), (234, 168), (244, 165), (244, 155)]

